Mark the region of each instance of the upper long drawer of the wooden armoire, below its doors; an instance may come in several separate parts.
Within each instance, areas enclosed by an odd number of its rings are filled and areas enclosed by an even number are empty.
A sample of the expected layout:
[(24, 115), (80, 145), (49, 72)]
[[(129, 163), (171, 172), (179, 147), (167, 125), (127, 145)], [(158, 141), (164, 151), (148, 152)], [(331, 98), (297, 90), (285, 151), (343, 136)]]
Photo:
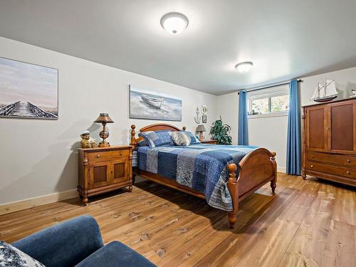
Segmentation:
[(356, 157), (351, 155), (338, 155), (308, 150), (307, 159), (316, 162), (345, 165), (345, 167), (356, 167)]

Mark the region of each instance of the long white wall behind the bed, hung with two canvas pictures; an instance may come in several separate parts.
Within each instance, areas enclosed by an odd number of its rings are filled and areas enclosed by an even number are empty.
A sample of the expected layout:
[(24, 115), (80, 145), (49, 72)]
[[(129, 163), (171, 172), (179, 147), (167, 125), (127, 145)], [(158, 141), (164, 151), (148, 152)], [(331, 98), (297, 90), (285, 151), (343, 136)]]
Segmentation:
[[(114, 124), (110, 144), (128, 144), (130, 125), (157, 121), (130, 120), (128, 85), (152, 88), (183, 100), (182, 122), (168, 122), (194, 131), (197, 105), (209, 108), (207, 128), (217, 117), (216, 96), (110, 68), (26, 43), (0, 38), (0, 56), (58, 69), (58, 120), (0, 118), (0, 204), (75, 189), (78, 184), (80, 133), (99, 140), (99, 112)], [(115, 56), (115, 55), (113, 55)]]

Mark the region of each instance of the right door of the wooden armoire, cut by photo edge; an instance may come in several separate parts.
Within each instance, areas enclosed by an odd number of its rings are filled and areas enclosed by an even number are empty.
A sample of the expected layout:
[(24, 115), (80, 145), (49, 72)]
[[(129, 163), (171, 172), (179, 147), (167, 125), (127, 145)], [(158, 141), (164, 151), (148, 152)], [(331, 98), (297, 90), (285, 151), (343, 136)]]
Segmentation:
[(345, 101), (330, 104), (330, 152), (355, 154), (355, 132), (355, 101)]

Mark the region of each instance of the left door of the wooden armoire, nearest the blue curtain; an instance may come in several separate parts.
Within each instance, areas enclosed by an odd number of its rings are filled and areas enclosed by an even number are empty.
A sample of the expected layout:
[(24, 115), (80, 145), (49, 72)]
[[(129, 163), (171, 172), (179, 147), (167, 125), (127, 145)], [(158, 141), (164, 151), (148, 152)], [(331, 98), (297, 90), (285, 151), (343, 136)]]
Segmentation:
[(325, 105), (308, 108), (306, 112), (306, 134), (308, 150), (328, 150), (328, 108)]

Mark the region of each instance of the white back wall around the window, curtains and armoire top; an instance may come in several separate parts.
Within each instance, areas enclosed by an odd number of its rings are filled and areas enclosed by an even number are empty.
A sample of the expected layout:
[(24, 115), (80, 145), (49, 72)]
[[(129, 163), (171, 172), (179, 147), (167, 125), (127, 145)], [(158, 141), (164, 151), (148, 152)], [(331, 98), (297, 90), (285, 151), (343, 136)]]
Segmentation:
[[(309, 99), (313, 95), (318, 82), (323, 84), (326, 78), (335, 80), (336, 88), (339, 91), (338, 98), (349, 98), (351, 95), (350, 90), (356, 88), (356, 68), (347, 68), (345, 70), (306, 77), (303, 78), (303, 83), (300, 83), (302, 105), (315, 104)], [(239, 96), (236, 93), (220, 95), (217, 103), (218, 115), (224, 114), (224, 122), (236, 127), (236, 131), (233, 132), (233, 140), (234, 144), (236, 144), (238, 112), (231, 109), (231, 106), (238, 108)], [(278, 170), (280, 171), (286, 169), (287, 125), (287, 116), (248, 119), (248, 141), (250, 145), (258, 145), (266, 147), (268, 150), (276, 151), (276, 160)]]

